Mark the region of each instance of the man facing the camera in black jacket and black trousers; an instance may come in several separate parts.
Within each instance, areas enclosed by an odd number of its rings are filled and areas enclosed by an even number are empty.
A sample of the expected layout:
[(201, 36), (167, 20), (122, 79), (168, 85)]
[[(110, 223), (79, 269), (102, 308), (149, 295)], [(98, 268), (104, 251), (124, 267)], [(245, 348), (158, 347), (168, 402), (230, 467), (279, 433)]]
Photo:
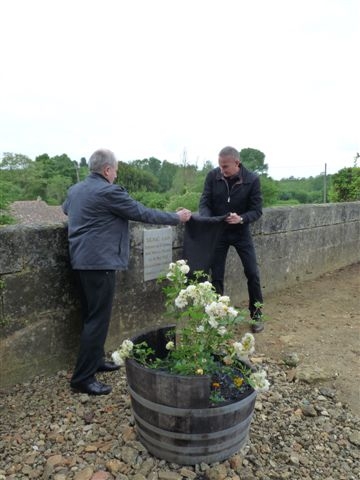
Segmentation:
[(200, 199), (199, 213), (220, 216), (227, 223), (216, 245), (211, 266), (211, 278), (217, 293), (224, 293), (225, 263), (230, 245), (234, 246), (244, 267), (248, 282), (249, 310), (255, 333), (264, 329), (261, 308), (263, 301), (256, 253), (250, 223), (262, 215), (260, 180), (240, 162), (239, 152), (225, 147), (219, 153), (219, 167), (208, 173)]

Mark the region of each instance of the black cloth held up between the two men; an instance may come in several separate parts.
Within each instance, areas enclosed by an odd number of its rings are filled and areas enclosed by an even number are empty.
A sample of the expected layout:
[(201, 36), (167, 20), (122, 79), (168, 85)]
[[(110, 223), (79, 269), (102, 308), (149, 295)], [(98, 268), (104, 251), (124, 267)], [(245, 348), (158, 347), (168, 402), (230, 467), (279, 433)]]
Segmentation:
[(224, 222), (229, 214), (205, 217), (192, 214), (185, 223), (183, 259), (190, 267), (189, 275), (198, 270), (209, 273), (216, 244), (227, 225)]

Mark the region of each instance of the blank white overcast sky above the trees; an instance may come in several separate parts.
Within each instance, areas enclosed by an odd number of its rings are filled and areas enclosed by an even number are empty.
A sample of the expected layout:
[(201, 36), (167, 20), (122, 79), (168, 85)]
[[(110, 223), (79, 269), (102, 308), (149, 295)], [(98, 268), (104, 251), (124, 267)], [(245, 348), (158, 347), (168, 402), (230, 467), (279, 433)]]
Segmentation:
[(265, 153), (308, 177), (360, 150), (360, 0), (2, 0), (0, 153)]

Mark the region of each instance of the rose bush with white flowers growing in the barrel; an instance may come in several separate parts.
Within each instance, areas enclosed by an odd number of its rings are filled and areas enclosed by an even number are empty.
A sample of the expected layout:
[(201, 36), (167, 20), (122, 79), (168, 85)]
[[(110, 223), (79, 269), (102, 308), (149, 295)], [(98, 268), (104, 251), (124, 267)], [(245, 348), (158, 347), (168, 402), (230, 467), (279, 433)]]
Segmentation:
[[(256, 371), (249, 363), (255, 350), (254, 336), (246, 333), (241, 340), (234, 339), (236, 327), (246, 321), (244, 312), (231, 306), (229, 297), (218, 295), (202, 272), (193, 278), (188, 278), (188, 273), (186, 261), (178, 260), (170, 263), (167, 275), (160, 279), (166, 282), (166, 313), (177, 324), (166, 344), (166, 357), (155, 357), (145, 342), (134, 345), (127, 339), (113, 352), (113, 361), (122, 365), (131, 357), (146, 367), (178, 375), (210, 375), (213, 403), (229, 400), (230, 391), (234, 398), (234, 388), (240, 392), (244, 384), (267, 390), (266, 372)], [(222, 390), (221, 385), (225, 385)]]

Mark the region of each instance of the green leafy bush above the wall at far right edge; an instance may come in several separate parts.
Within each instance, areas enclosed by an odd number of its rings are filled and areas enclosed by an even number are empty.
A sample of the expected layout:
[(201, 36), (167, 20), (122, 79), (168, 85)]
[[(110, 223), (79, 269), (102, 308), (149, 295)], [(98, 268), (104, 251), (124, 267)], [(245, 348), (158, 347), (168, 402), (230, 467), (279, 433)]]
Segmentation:
[(329, 197), (333, 202), (360, 200), (360, 167), (343, 168), (335, 173)]

